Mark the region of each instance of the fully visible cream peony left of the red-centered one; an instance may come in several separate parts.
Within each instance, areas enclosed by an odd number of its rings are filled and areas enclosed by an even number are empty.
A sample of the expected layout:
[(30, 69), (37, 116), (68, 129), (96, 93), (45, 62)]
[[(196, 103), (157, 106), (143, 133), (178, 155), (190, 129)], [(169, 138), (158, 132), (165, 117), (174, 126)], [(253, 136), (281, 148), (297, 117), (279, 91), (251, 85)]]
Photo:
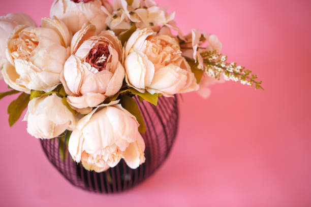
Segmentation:
[(8, 39), (7, 59), (13, 66), (2, 74), (16, 90), (51, 91), (69, 55), (70, 34), (58, 19), (42, 19), (41, 27), (17, 26)]

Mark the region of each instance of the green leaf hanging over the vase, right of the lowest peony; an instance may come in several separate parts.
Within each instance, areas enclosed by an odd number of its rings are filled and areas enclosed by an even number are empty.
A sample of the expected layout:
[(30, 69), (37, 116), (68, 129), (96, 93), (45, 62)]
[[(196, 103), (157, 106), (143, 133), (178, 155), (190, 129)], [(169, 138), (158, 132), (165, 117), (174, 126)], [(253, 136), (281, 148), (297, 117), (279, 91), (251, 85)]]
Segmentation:
[(131, 114), (133, 114), (136, 117), (138, 123), (140, 124), (138, 127), (138, 131), (143, 134), (146, 133), (145, 122), (139, 111), (136, 101), (128, 95), (122, 95), (121, 105), (123, 108), (128, 110)]

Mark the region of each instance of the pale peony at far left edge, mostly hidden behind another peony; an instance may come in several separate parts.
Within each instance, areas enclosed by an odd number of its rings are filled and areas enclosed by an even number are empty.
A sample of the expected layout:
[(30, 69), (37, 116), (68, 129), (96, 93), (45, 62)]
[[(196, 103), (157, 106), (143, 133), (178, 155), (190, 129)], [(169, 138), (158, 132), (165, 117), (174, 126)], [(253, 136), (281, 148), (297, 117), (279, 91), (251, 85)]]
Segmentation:
[[(7, 62), (7, 40), (17, 25), (37, 26), (32, 18), (23, 13), (10, 13), (6, 16), (0, 16), (0, 71)], [(2, 74), (0, 74), (0, 79), (2, 79)]]

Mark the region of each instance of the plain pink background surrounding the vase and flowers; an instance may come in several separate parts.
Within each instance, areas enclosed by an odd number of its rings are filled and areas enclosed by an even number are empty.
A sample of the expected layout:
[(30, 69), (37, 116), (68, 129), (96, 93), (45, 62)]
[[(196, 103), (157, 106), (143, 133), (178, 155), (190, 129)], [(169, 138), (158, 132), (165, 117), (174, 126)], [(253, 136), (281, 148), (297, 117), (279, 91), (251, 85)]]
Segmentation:
[[(1, 1), (0, 15), (25, 12), (37, 23), (52, 0)], [(1, 100), (1, 206), (311, 206), (310, 1), (158, 0), (184, 32), (222, 41), (229, 60), (251, 68), (265, 91), (228, 82), (209, 99), (185, 94), (167, 162), (126, 193), (100, 195), (69, 184), (39, 141)], [(6, 85), (1, 82), (1, 91)]]

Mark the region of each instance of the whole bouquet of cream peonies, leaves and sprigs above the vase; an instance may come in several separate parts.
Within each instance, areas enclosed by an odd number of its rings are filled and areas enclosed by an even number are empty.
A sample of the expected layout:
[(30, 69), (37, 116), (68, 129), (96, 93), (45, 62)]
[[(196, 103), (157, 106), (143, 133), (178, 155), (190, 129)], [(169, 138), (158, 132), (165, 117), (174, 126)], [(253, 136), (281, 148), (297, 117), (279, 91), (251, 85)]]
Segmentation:
[[(121, 159), (145, 161), (146, 126), (134, 96), (157, 106), (160, 96), (235, 81), (263, 89), (245, 67), (227, 62), (222, 43), (198, 29), (183, 35), (153, 0), (55, 0), (41, 26), (27, 15), (0, 17), (0, 70), (12, 126), (27, 108), (29, 134), (69, 136), (73, 160), (102, 172)], [(64, 155), (62, 155), (64, 156)]]

